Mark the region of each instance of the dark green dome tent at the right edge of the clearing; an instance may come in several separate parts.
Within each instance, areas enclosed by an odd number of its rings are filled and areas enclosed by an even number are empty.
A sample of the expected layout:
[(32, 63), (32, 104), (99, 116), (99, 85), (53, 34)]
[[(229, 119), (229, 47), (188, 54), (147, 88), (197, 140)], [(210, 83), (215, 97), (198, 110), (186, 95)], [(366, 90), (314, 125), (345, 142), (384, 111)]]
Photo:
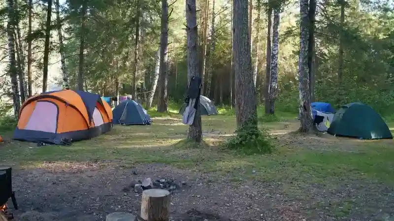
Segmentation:
[(335, 113), (327, 132), (360, 139), (393, 139), (389, 127), (378, 113), (363, 103), (349, 103)]

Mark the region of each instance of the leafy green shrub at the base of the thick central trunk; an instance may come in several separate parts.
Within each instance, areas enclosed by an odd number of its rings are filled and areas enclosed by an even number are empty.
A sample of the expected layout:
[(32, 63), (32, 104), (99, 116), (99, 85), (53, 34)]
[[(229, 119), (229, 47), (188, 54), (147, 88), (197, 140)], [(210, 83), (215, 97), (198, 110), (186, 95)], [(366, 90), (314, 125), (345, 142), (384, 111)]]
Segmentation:
[(236, 129), (236, 135), (226, 141), (225, 147), (245, 155), (272, 153), (274, 145), (268, 130), (259, 129), (252, 121)]

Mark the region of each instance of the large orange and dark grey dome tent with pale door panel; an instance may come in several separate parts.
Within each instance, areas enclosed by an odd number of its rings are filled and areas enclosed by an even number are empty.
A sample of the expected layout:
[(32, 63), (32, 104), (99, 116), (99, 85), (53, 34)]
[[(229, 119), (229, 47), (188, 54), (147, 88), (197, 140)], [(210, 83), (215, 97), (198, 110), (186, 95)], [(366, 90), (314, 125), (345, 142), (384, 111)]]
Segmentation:
[(60, 145), (86, 140), (109, 131), (112, 119), (111, 107), (100, 95), (47, 92), (23, 103), (14, 139)]

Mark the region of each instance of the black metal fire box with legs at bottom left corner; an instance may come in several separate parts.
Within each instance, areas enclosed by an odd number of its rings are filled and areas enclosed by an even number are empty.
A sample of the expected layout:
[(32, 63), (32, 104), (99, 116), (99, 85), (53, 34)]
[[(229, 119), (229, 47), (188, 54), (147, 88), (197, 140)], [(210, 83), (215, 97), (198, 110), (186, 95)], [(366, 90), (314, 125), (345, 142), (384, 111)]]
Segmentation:
[(12, 200), (14, 209), (17, 210), (18, 204), (16, 203), (15, 192), (12, 191), (11, 167), (0, 167), (0, 221), (13, 219), (12, 213), (7, 210), (9, 198)]

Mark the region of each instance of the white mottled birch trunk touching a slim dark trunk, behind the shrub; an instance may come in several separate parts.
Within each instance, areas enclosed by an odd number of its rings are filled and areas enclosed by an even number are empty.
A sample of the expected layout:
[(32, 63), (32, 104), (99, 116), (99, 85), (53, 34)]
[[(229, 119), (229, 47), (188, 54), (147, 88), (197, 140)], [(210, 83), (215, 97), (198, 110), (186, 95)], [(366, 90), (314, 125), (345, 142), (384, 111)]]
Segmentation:
[(278, 93), (278, 53), (279, 53), (279, 23), (280, 8), (274, 9), (274, 21), (272, 29), (272, 51), (271, 51), (271, 70), (269, 84), (269, 114), (275, 114), (275, 98)]

